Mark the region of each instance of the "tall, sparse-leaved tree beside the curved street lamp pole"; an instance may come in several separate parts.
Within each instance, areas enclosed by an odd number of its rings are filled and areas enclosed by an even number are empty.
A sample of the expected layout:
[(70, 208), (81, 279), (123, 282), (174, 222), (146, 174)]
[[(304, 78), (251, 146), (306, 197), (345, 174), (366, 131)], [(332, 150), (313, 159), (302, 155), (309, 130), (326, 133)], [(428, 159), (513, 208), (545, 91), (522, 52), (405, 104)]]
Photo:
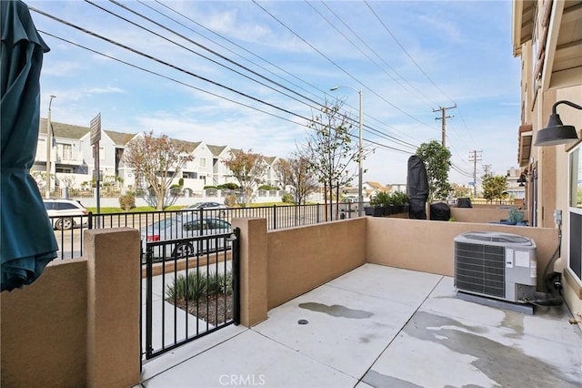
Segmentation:
[(311, 135), (307, 138), (306, 147), (299, 151), (309, 161), (310, 172), (324, 185), (326, 204), (327, 198), (330, 203), (332, 201), (334, 187), (345, 186), (351, 180), (346, 170), (358, 158), (357, 145), (352, 144), (355, 136), (351, 124), (353, 120), (341, 112), (343, 105), (340, 100), (334, 104), (326, 101), (325, 107), (314, 114), (307, 124)]

